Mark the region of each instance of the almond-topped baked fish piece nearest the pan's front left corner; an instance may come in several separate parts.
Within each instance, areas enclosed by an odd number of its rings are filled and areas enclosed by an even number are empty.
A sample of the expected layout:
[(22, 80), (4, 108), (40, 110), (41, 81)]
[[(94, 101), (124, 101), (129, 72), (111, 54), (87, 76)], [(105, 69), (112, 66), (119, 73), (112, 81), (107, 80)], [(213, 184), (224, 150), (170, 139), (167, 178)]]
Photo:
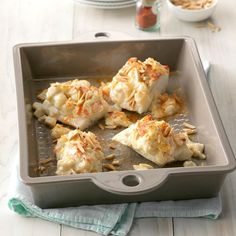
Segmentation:
[(55, 146), (58, 175), (102, 171), (101, 145), (95, 134), (78, 129), (62, 135)]

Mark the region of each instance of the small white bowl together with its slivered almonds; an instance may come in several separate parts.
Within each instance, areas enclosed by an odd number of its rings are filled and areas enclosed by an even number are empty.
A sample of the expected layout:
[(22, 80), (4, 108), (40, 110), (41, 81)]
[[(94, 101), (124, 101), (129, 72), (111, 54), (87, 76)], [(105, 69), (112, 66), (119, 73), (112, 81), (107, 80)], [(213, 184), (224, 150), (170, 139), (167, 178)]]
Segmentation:
[(180, 20), (197, 22), (209, 18), (218, 0), (167, 0), (169, 10)]

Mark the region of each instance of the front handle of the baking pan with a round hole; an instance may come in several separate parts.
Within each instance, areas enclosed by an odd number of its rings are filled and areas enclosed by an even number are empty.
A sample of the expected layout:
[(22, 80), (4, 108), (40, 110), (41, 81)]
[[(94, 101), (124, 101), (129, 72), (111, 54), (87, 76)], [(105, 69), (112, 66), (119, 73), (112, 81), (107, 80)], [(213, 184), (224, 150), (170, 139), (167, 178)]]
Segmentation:
[[(107, 175), (109, 174), (109, 175)], [(160, 187), (168, 179), (166, 170), (140, 170), (103, 173), (93, 182), (101, 189), (119, 195), (136, 195)]]

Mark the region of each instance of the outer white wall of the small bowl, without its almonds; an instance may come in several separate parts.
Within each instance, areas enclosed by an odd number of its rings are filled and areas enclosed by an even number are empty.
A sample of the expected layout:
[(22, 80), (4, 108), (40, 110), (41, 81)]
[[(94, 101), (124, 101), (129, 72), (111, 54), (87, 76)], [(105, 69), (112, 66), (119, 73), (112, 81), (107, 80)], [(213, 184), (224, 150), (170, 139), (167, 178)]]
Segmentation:
[(179, 6), (174, 5), (170, 0), (167, 0), (167, 5), (170, 11), (180, 20), (188, 21), (188, 22), (197, 22), (202, 21), (209, 18), (212, 13), (215, 11), (218, 0), (214, 0), (214, 2), (208, 7), (204, 9), (183, 9)]

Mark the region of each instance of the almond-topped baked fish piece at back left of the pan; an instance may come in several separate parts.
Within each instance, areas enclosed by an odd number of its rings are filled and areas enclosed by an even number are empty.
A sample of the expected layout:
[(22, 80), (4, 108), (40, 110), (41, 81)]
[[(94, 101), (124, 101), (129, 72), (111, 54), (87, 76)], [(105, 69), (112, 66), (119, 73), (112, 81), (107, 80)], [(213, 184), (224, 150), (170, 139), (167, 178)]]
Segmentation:
[(109, 110), (102, 91), (86, 80), (52, 83), (43, 103), (34, 103), (34, 115), (54, 118), (64, 124), (84, 130), (104, 117)]

